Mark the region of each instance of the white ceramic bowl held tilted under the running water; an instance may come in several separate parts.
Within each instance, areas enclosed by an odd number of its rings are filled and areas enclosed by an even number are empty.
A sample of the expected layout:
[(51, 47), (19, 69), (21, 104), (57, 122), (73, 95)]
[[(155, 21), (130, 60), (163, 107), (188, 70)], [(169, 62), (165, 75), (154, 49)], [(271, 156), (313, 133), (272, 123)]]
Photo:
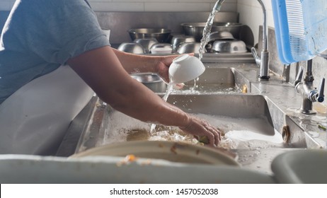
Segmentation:
[(200, 76), (205, 71), (205, 65), (197, 57), (183, 54), (173, 59), (169, 66), (171, 83), (185, 83)]

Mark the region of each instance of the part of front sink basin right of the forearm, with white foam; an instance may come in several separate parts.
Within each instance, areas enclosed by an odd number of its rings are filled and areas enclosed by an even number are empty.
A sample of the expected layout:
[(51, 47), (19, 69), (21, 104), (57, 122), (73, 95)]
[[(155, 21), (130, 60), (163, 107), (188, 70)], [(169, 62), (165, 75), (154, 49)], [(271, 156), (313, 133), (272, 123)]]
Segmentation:
[(224, 148), (284, 146), (263, 95), (171, 95), (168, 103), (221, 129)]

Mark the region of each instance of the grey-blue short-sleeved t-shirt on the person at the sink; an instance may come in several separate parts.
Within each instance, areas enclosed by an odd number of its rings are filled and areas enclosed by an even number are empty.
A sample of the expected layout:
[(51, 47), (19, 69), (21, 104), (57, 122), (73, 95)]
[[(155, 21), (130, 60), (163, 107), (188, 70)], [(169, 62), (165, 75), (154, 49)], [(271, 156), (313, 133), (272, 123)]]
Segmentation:
[(86, 0), (16, 0), (0, 37), (0, 104), (71, 57), (106, 45)]

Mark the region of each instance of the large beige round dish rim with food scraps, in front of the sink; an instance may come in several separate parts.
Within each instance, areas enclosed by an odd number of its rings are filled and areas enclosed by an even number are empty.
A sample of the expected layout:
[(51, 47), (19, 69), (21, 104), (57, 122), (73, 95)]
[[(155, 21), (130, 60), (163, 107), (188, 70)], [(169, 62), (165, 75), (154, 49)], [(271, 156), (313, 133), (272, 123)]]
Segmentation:
[(91, 148), (76, 153), (71, 158), (86, 156), (127, 156), (137, 158), (156, 158), (178, 163), (202, 163), (212, 165), (239, 166), (234, 158), (223, 151), (205, 146), (173, 141), (126, 141), (106, 146)]

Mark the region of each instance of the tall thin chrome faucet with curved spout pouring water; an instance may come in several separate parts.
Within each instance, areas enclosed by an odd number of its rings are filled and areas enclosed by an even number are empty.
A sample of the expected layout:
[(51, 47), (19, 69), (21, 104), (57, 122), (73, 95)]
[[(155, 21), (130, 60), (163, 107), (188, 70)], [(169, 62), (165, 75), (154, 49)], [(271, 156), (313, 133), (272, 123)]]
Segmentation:
[(263, 1), (258, 0), (261, 7), (263, 8), (263, 50), (261, 51), (261, 58), (258, 57), (256, 48), (252, 47), (251, 52), (253, 57), (256, 59), (256, 64), (260, 66), (260, 74), (258, 78), (262, 80), (268, 80), (269, 76), (269, 52), (268, 52), (268, 26), (267, 26), (267, 14), (265, 10), (265, 4)]

